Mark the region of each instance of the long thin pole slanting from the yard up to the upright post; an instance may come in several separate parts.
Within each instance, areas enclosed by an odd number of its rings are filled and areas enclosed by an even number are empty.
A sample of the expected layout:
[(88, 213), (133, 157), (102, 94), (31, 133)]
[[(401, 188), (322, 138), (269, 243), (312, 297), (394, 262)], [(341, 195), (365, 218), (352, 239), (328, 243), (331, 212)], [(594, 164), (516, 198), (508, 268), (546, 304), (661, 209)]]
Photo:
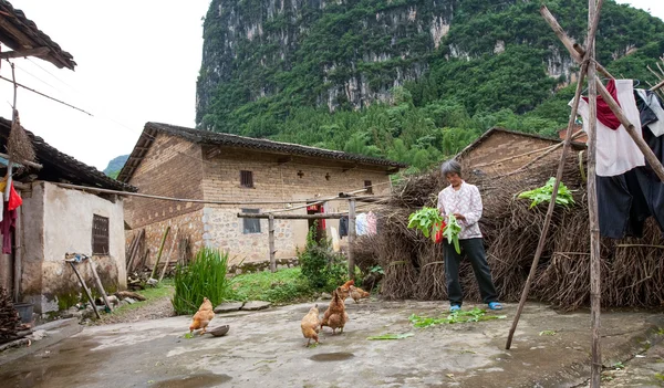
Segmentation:
[(551, 218), (553, 216), (553, 209), (556, 208), (556, 198), (558, 197), (558, 188), (560, 186), (560, 180), (562, 179), (562, 171), (564, 170), (564, 161), (567, 160), (567, 154), (570, 149), (570, 145), (572, 144), (572, 130), (574, 128), (574, 120), (577, 118), (577, 111), (579, 109), (579, 102), (581, 101), (581, 91), (583, 88), (583, 78), (585, 77), (585, 72), (588, 71), (588, 66), (582, 66), (579, 72), (579, 82), (577, 83), (577, 93), (574, 94), (574, 103), (572, 104), (572, 114), (570, 115), (570, 119), (568, 122), (567, 136), (564, 137), (564, 143), (562, 146), (562, 151), (560, 155), (560, 162), (558, 164), (558, 171), (556, 172), (556, 182), (553, 183), (553, 192), (551, 193), (551, 201), (549, 202), (549, 209), (547, 210), (547, 216), (544, 217), (544, 224), (542, 226), (542, 233), (540, 234), (540, 240), (537, 244), (537, 250), (535, 252), (535, 258), (532, 259), (532, 264), (530, 265), (530, 273), (528, 274), (528, 279), (526, 280), (526, 285), (523, 285), (523, 291), (521, 292), (521, 300), (519, 301), (519, 308), (517, 308), (517, 314), (515, 315), (515, 319), (512, 322), (511, 328), (509, 329), (509, 335), (507, 336), (507, 344), (505, 348), (509, 350), (511, 347), (511, 342), (515, 336), (515, 332), (517, 331), (517, 325), (519, 324), (519, 318), (521, 317), (521, 313), (523, 312), (523, 306), (526, 305), (526, 301), (528, 300), (528, 293), (530, 292), (530, 285), (535, 280), (537, 273), (537, 266), (539, 264), (539, 260), (542, 255), (542, 251), (544, 249), (544, 242), (547, 241), (547, 233), (549, 232), (549, 226), (551, 224)]

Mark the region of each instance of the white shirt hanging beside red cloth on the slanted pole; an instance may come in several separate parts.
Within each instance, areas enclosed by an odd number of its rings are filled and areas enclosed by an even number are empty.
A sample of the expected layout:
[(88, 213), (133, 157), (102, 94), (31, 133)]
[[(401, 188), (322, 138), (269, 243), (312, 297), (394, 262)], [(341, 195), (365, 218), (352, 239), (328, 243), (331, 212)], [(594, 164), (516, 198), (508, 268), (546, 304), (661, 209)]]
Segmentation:
[[(634, 125), (635, 132), (641, 135), (641, 120), (632, 80), (615, 80), (618, 101), (624, 115)], [(573, 102), (570, 102), (570, 106)], [(579, 102), (579, 115), (583, 117), (583, 130), (588, 132), (590, 105), (581, 99)], [(645, 157), (639, 149), (632, 137), (621, 125), (613, 130), (602, 122), (596, 123), (596, 175), (612, 177), (624, 174), (634, 167), (645, 166)]]

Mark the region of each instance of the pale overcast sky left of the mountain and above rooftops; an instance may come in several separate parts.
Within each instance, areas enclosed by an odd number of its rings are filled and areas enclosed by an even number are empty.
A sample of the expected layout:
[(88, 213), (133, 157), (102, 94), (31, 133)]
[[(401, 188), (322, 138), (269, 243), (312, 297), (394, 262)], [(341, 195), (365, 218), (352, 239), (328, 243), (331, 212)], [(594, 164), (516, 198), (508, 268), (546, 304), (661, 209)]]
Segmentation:
[[(664, 20), (662, 0), (619, 0)], [(17, 81), (94, 115), (19, 88), (25, 128), (104, 169), (131, 153), (146, 122), (194, 126), (203, 17), (209, 0), (11, 0), (76, 61), (74, 72), (18, 59)], [(563, 21), (561, 21), (563, 22)], [(7, 62), (0, 74), (11, 77)], [(11, 118), (11, 84), (0, 80), (0, 116)]]

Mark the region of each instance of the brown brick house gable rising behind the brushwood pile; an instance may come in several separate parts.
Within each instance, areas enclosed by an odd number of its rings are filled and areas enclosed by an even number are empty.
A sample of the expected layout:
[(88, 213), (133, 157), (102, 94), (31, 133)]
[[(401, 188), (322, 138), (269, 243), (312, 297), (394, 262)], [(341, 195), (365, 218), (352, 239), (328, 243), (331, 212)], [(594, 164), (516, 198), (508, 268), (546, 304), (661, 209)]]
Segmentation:
[[(498, 176), (522, 168), (537, 158), (541, 158), (537, 161), (558, 165), (562, 147), (551, 149), (560, 144), (559, 138), (494, 127), (464, 148), (457, 158), (476, 174)], [(572, 141), (572, 148), (581, 150), (585, 145)], [(548, 150), (551, 153), (543, 156)]]

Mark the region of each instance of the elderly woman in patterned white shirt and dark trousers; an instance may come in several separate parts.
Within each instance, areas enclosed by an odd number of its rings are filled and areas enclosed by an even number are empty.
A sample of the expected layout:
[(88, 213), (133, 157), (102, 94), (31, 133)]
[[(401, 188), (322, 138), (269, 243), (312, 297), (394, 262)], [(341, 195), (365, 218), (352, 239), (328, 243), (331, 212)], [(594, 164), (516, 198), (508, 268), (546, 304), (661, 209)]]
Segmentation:
[(468, 185), (461, 179), (461, 165), (458, 161), (448, 160), (443, 164), (440, 169), (449, 186), (438, 193), (438, 210), (446, 222), (449, 216), (454, 214), (461, 227), (459, 232), (460, 254), (447, 240), (443, 242), (449, 311), (461, 310), (464, 302), (464, 291), (459, 283), (459, 264), (464, 255), (470, 260), (483, 301), (489, 305), (490, 310), (502, 310), (502, 305), (498, 303), (496, 286), (491, 281), (491, 271), (484, 250), (484, 239), (477, 223), (481, 218), (479, 190), (476, 186)]

